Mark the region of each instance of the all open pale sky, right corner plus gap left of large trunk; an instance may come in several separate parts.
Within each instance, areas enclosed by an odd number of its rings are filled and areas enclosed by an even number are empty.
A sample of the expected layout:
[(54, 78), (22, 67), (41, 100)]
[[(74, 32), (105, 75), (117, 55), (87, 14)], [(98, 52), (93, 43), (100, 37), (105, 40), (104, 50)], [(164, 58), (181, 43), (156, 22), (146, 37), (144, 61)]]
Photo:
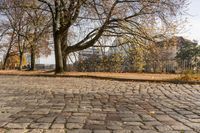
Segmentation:
[[(183, 36), (190, 40), (197, 40), (200, 44), (200, 0), (190, 0), (186, 12), (187, 14), (183, 17), (187, 18), (187, 23), (178, 36)], [(54, 54), (40, 58), (39, 63), (55, 64)]]

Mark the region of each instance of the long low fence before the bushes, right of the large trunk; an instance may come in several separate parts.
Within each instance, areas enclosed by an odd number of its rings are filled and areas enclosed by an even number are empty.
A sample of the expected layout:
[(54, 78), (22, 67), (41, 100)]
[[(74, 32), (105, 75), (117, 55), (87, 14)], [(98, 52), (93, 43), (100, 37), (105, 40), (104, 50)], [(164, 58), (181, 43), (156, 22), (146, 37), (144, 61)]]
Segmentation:
[(189, 60), (146, 60), (141, 62), (127, 59), (100, 60), (87, 59), (70, 65), (69, 71), (81, 72), (151, 72), (151, 73), (182, 73), (184, 71), (200, 72), (199, 61)]

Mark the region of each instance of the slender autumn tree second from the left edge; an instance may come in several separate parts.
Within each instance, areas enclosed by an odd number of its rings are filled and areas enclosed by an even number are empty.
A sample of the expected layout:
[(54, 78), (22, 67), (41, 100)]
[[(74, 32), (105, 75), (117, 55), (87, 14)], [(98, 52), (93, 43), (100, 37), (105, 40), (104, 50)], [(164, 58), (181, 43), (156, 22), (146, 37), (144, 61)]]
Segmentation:
[(10, 27), (10, 31), (14, 32), (16, 37), (15, 49), (18, 50), (19, 55), (19, 70), (22, 69), (23, 56), (27, 50), (29, 44), (28, 34), (30, 33), (30, 25), (28, 24), (27, 14), (24, 8), (21, 8), (25, 4), (23, 1), (1, 1), (1, 14), (3, 14), (3, 21), (7, 21)]

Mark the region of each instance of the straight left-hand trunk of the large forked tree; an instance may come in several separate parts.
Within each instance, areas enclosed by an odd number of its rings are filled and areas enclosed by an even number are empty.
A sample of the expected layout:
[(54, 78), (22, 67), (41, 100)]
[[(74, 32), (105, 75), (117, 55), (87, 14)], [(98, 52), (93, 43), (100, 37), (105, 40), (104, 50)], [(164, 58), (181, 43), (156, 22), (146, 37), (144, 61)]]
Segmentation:
[(61, 35), (59, 33), (54, 33), (54, 49), (55, 49), (55, 61), (56, 69), (55, 73), (63, 73), (63, 57), (61, 50)]

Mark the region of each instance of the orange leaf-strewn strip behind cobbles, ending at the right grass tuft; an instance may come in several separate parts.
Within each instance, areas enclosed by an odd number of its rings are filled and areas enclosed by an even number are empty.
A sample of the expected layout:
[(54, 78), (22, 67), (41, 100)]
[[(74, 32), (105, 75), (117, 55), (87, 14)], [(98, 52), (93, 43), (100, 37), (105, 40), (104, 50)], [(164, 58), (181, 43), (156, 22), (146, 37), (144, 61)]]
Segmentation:
[[(0, 75), (41, 75), (54, 76), (52, 71), (17, 71), (17, 70), (1, 70)], [(99, 77), (99, 78), (114, 78), (124, 80), (148, 80), (148, 81), (163, 81), (175, 80), (180, 78), (180, 74), (151, 74), (151, 73), (108, 73), (108, 72), (65, 72), (62, 76), (72, 77)]]

